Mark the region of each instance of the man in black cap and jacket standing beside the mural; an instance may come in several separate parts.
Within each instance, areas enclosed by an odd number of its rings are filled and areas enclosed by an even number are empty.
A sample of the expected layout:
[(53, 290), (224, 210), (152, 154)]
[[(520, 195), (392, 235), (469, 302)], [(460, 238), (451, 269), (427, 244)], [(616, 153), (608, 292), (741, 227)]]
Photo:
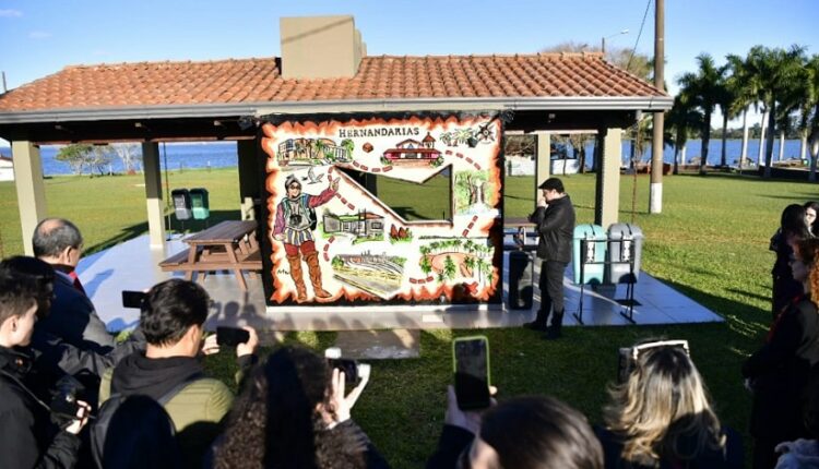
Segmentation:
[[(529, 219), (537, 225), (539, 241), (537, 257), (541, 263), (541, 309), (537, 317), (524, 326), (535, 330), (547, 330), (546, 339), (560, 337), (563, 322), (563, 272), (571, 261), (571, 237), (574, 230), (574, 207), (558, 178), (545, 180), (539, 189), (543, 197)], [(551, 326), (547, 329), (549, 313)]]

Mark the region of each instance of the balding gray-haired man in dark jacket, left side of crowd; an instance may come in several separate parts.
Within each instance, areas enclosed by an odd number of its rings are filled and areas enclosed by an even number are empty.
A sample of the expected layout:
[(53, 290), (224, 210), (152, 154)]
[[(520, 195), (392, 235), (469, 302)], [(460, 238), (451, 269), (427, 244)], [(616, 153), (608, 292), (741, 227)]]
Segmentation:
[(46, 218), (37, 224), (32, 243), (34, 255), (55, 269), (51, 311), (37, 323), (37, 328), (83, 350), (100, 353), (112, 350), (114, 337), (71, 277), (83, 250), (83, 237), (76, 226), (63, 218)]

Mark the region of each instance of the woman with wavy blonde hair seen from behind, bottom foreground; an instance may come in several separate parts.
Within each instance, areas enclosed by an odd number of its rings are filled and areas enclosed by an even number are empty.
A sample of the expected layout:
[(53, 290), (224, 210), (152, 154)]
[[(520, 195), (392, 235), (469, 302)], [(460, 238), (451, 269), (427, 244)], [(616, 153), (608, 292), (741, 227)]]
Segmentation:
[(738, 435), (720, 425), (682, 348), (645, 348), (609, 394), (597, 432), (606, 469), (743, 467)]

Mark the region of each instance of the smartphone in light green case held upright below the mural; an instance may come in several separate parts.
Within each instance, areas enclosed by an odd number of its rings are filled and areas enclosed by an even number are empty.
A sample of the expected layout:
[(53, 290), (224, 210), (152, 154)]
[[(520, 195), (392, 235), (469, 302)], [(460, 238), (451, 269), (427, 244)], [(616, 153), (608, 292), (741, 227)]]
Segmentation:
[(462, 410), (489, 407), (489, 340), (485, 336), (452, 341), (455, 397)]

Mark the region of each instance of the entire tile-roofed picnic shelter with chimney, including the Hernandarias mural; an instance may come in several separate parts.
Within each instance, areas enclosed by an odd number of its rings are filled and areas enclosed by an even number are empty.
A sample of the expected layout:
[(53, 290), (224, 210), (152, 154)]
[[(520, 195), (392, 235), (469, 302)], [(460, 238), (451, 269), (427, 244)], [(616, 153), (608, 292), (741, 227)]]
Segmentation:
[[(594, 218), (608, 226), (621, 130), (673, 104), (600, 53), (368, 56), (352, 16), (281, 19), (280, 31), (277, 58), (67, 67), (0, 95), (26, 253), (48, 213), (39, 145), (139, 142), (150, 245), (161, 253), (161, 144), (234, 141), (268, 306), (498, 303), (505, 132), (536, 141), (533, 205), (550, 135), (596, 135)], [(381, 200), (384, 179), (418, 191), (443, 180), (449, 208), (411, 220)], [(359, 213), (383, 234), (333, 232)]]

